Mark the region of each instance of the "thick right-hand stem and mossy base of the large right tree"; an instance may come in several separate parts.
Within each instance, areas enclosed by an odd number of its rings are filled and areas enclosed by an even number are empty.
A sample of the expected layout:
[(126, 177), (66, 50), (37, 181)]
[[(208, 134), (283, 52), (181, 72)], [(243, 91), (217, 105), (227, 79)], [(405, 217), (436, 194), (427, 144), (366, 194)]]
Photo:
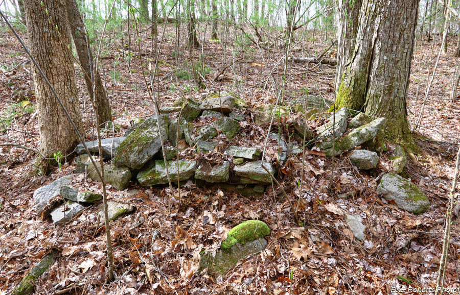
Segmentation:
[[(406, 95), (418, 0), (363, 0), (354, 52), (343, 68), (336, 109), (386, 117), (385, 136), (410, 142)], [(359, 42), (359, 43), (358, 43)]]

